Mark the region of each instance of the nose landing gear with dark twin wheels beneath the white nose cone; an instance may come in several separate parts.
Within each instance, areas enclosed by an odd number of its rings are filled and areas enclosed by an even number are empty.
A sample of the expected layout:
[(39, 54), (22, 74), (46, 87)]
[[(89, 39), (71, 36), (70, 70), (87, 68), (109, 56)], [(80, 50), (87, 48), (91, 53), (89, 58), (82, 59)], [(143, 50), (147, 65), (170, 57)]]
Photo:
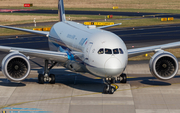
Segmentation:
[(116, 87), (112, 86), (111, 84), (115, 82), (114, 78), (106, 78), (104, 80), (105, 86), (103, 89), (104, 94), (113, 94), (114, 91), (116, 90)]

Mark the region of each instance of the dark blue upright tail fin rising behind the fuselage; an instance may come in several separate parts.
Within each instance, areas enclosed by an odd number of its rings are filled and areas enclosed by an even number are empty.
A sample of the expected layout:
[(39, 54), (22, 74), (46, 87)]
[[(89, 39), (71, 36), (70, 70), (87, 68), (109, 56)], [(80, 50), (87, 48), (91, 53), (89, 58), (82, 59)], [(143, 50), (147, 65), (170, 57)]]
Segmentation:
[(59, 15), (59, 21), (62, 21), (62, 22), (66, 21), (63, 0), (59, 0), (59, 3), (58, 3), (58, 15)]

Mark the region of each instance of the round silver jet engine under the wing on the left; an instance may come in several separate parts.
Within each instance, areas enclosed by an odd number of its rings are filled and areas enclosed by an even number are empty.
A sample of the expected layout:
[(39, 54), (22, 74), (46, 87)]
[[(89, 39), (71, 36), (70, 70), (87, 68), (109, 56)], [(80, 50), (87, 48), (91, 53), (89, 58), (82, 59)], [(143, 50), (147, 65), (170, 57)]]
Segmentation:
[(2, 72), (11, 81), (24, 80), (30, 73), (30, 63), (25, 55), (12, 52), (2, 61)]

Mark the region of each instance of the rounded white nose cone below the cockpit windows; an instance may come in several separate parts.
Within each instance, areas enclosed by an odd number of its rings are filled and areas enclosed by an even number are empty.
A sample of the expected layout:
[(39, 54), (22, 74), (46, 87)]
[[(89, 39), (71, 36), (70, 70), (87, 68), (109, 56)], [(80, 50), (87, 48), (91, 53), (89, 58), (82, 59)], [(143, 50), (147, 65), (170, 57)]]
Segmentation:
[(110, 58), (106, 61), (104, 66), (106, 76), (118, 76), (123, 71), (122, 63), (117, 58)]

